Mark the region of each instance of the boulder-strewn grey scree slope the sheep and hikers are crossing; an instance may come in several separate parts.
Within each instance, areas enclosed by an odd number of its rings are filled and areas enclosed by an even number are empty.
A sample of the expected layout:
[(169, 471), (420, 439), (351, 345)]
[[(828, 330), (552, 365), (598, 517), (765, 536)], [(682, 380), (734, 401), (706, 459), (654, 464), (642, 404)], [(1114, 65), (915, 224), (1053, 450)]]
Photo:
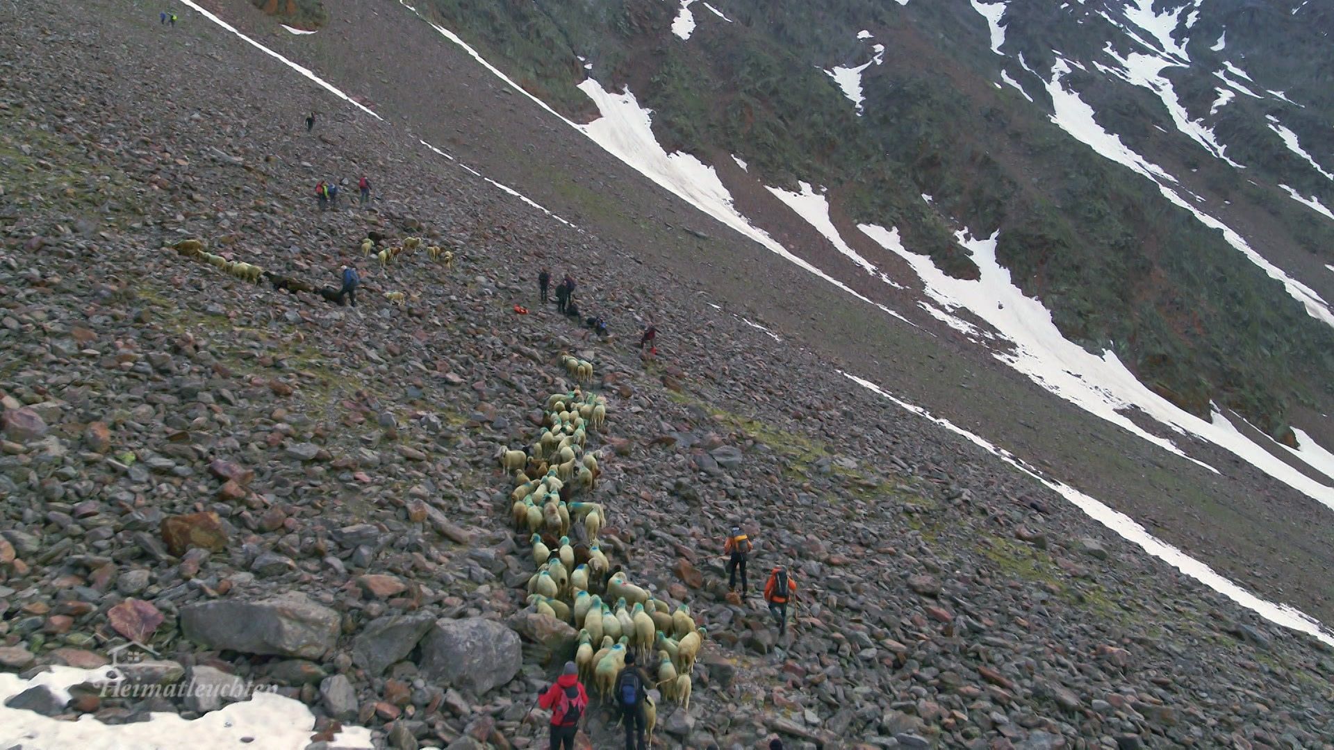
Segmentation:
[[(395, 747), (532, 745), (522, 719), (559, 643), (528, 639), (520, 661), (483, 630), (448, 655), (504, 667), (486, 682), (440, 670), (431, 643), (474, 618), (523, 627), (530, 555), (494, 456), (567, 387), (568, 350), (610, 400), (608, 547), (711, 633), (690, 714), (660, 711), (668, 746), (1327, 746), (1334, 658), (1315, 641), (850, 387), (738, 303), (680, 294), (700, 282), (654, 250), (452, 168), (395, 107), (376, 120), (195, 13), (171, 31), (155, 15), (36, 7), (0, 29), (7, 670), (95, 666), (147, 633), (167, 663), (143, 679), (276, 682), (321, 730), (364, 723)], [(459, 109), (506, 108), (483, 91)], [(371, 207), (315, 208), (317, 179), (362, 172)], [(362, 262), (368, 231), (436, 238), (458, 266), (363, 264), (354, 311), (160, 250), (204, 238), (317, 284)], [(534, 300), (542, 266), (578, 275), (614, 340)], [(648, 318), (663, 336), (646, 362)], [(755, 578), (786, 562), (807, 591), (787, 642), (758, 601), (726, 597), (734, 522), (758, 539)], [(255, 634), (265, 618), (305, 638)], [(388, 622), (432, 634), (416, 646)], [(80, 695), (48, 710), (112, 723), (212, 707)], [(590, 727), (610, 746), (603, 717)]]

